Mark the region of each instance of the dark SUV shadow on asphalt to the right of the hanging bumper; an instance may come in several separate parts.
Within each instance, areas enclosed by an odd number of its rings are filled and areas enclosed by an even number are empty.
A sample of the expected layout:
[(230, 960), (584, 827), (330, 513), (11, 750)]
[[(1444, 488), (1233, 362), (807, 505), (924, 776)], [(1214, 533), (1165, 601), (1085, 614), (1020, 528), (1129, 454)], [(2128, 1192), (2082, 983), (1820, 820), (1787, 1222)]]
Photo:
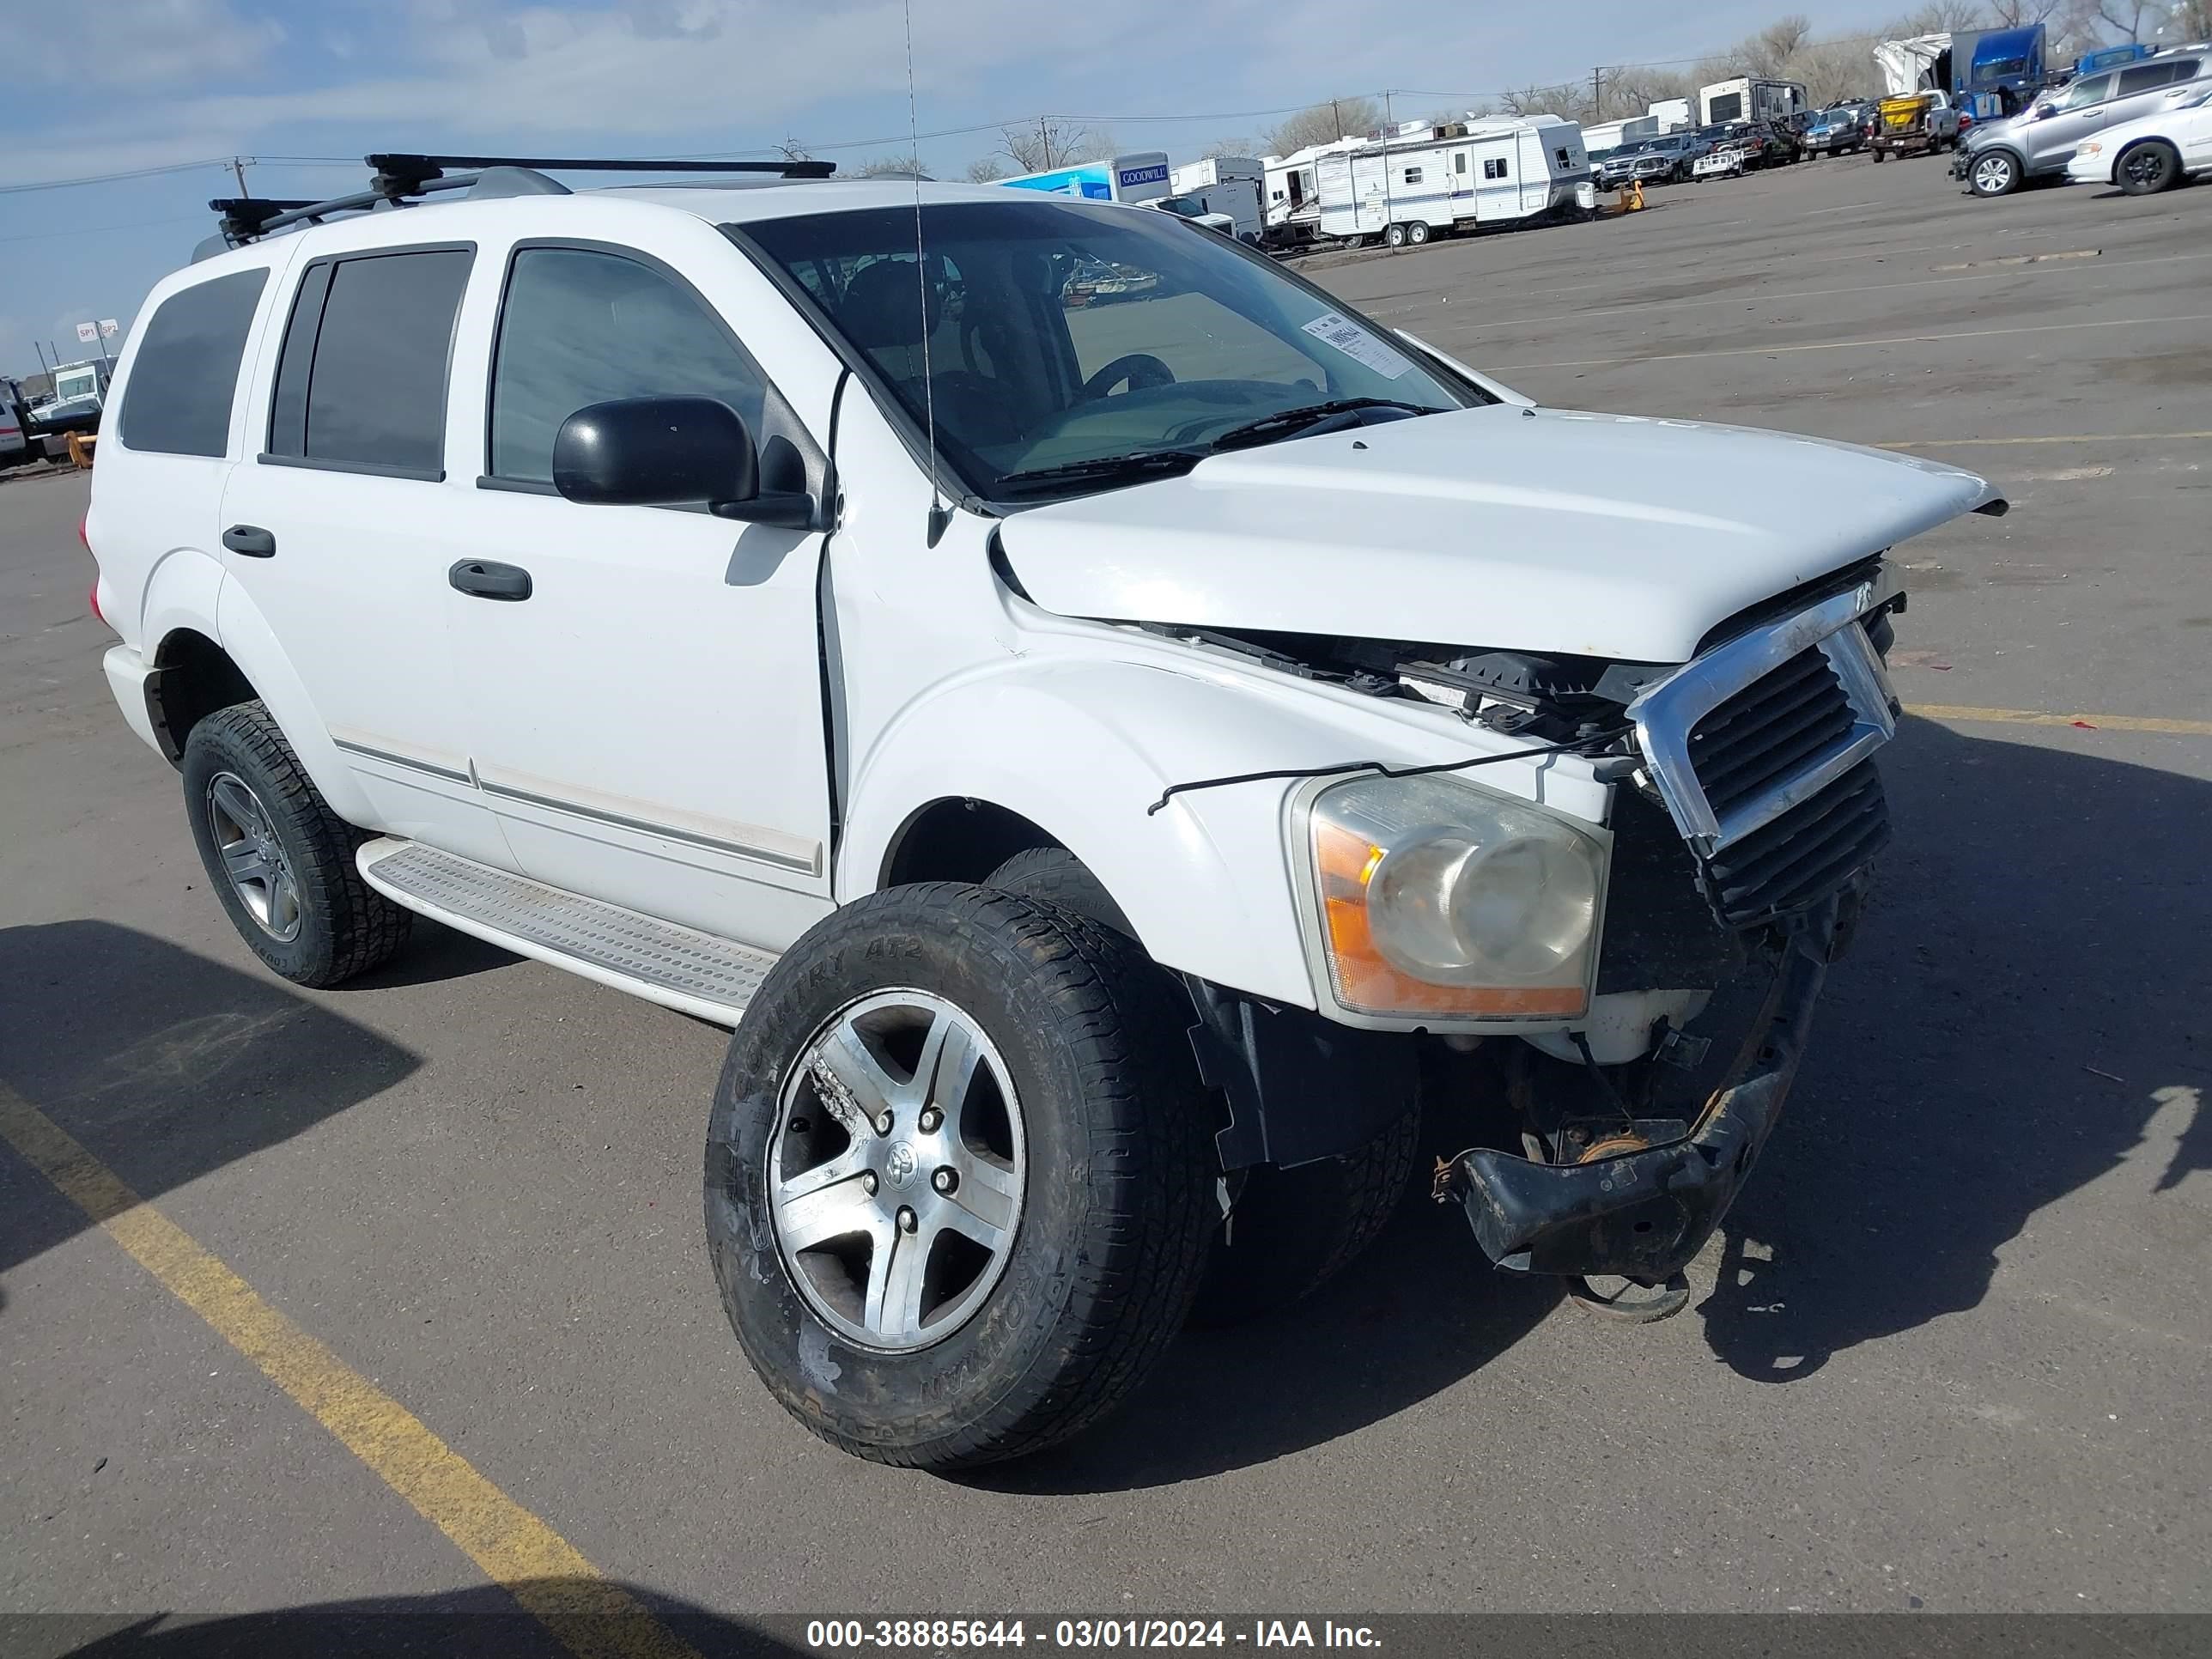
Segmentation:
[(1767, 1383), (1978, 1307), (2037, 1210), (2124, 1164), (2132, 1248), (2212, 1232), (2177, 1192), (2212, 1168), (2212, 785), (1920, 719), (1882, 770), (1880, 902), (1697, 1307)]

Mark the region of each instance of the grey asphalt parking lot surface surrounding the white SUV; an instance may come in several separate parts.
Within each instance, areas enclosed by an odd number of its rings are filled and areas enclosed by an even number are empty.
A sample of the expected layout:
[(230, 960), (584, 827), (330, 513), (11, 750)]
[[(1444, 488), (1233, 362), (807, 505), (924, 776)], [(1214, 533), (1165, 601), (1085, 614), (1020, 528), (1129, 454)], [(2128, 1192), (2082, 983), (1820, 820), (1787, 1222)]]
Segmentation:
[[(1843, 159), (1650, 204), (1307, 265), (1544, 403), (1887, 442), (2013, 502), (1902, 553), (1898, 843), (1681, 1318), (1601, 1325), (1413, 1203), (1044, 1460), (816, 1444), (701, 1250), (723, 1035), (436, 929), (336, 993), (270, 978), (108, 699), (77, 476), (0, 482), (0, 1099), (679, 1632), (2212, 1610), (2212, 188), (1980, 204)], [(7, 1139), (0, 1298), (0, 1610), (487, 1595)]]

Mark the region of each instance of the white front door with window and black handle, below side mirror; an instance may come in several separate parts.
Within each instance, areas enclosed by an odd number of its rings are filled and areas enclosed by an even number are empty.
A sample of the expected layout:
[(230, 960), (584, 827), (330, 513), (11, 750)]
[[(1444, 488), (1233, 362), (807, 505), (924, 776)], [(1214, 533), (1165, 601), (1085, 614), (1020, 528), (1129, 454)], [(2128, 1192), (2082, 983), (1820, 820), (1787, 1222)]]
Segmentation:
[[(445, 597), (476, 776), (520, 867), (783, 949), (830, 911), (821, 535), (562, 500), (553, 438), (641, 396), (721, 398), (763, 473), (812, 436), (714, 307), (637, 250), (515, 246), (487, 392), (487, 476)], [(526, 597), (462, 564), (509, 566)]]

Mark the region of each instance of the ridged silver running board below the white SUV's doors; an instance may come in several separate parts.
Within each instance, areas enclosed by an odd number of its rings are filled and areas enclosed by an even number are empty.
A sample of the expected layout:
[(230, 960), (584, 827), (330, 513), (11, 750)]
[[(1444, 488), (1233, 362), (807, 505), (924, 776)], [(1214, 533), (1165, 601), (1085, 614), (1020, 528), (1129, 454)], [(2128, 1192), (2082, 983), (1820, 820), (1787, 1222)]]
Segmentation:
[(369, 887), (420, 916), (719, 1026), (739, 1022), (776, 964), (770, 951), (602, 905), (420, 841), (367, 841), (354, 863)]

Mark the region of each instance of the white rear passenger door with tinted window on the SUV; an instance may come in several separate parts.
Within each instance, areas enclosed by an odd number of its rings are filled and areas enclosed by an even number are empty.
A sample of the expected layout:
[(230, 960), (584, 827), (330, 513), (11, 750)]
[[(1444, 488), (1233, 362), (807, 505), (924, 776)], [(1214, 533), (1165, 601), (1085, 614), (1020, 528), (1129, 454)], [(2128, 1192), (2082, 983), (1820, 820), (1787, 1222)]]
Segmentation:
[(303, 263), (223, 493), (223, 562), (259, 613), (239, 626), (268, 626), (358, 776), (365, 827), (513, 867), (469, 774), (438, 542), (473, 263), (467, 241)]

